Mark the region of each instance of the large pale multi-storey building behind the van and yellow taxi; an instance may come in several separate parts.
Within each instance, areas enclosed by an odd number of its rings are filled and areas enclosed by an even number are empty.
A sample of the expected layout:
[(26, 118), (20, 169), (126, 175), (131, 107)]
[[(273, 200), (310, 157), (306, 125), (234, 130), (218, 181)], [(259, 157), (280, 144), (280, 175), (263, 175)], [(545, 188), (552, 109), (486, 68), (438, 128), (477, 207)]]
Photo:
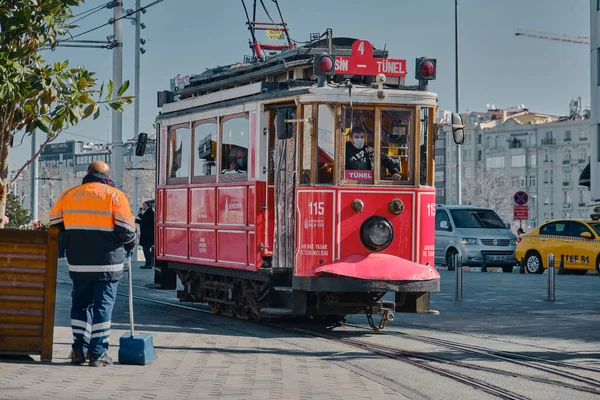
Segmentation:
[[(443, 116), (443, 115), (442, 115)], [(513, 221), (513, 196), (529, 195), (528, 227), (556, 218), (588, 218), (590, 193), (579, 177), (590, 160), (589, 114), (581, 100), (569, 117), (520, 110), (465, 116), (462, 151), (463, 204), (496, 209)], [(440, 135), (451, 137), (448, 130)], [(437, 146), (436, 142), (436, 146)], [(438, 203), (455, 204), (456, 148), (444, 138), (436, 149)]]

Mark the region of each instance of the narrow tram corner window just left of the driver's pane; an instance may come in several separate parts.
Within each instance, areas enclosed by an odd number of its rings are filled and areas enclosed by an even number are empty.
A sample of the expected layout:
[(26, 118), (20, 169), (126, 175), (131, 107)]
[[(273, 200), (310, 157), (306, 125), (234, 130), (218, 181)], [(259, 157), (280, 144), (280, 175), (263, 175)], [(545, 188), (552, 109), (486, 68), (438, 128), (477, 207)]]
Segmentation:
[(335, 110), (333, 107), (319, 105), (317, 136), (317, 170), (318, 183), (333, 183), (333, 167), (335, 160)]

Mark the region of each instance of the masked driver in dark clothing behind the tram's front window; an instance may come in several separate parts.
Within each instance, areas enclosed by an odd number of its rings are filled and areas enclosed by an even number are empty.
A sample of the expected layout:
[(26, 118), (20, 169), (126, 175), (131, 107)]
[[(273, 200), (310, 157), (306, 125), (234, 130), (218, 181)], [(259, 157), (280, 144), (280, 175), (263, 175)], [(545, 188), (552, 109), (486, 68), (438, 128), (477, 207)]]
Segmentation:
[[(360, 126), (355, 126), (350, 134), (350, 141), (346, 142), (346, 169), (347, 170), (372, 170), (373, 154), (375, 149), (365, 146), (365, 131)], [(397, 181), (402, 178), (400, 165), (385, 153), (381, 153), (381, 164), (387, 168), (392, 179)]]

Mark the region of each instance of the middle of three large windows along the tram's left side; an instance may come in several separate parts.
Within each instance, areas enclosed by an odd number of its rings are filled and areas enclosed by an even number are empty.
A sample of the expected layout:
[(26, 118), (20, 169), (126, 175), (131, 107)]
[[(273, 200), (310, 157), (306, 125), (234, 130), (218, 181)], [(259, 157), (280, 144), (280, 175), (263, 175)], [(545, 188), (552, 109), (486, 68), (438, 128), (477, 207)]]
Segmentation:
[[(194, 127), (194, 177), (217, 175), (217, 122), (200, 122)], [(200, 179), (202, 180), (202, 179)]]

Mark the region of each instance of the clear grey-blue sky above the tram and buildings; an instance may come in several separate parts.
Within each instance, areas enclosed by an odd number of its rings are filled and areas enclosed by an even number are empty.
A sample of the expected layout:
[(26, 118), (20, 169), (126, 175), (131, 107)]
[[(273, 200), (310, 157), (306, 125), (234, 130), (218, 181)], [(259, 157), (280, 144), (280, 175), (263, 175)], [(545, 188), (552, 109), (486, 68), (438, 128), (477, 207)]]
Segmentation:
[[(74, 10), (81, 13), (108, 0), (87, 0)], [(275, 18), (271, 0), (263, 0)], [(151, 0), (142, 0), (142, 5)], [(134, 8), (134, 0), (124, 0)], [(252, 1), (246, 0), (251, 6)], [(530, 110), (567, 114), (569, 101), (590, 98), (589, 45), (515, 36), (517, 29), (531, 29), (589, 36), (589, 0), (459, 0), (460, 108), (485, 111), (486, 104), (507, 108), (525, 104)], [(437, 58), (437, 80), (429, 85), (437, 92), (442, 109), (454, 109), (454, 1), (453, 0), (279, 0), (293, 39), (308, 40), (312, 32), (333, 29), (334, 36), (369, 40), (385, 46), (389, 56), (407, 60), (407, 83), (414, 83), (414, 60)], [(259, 2), (260, 9), (260, 2)], [(267, 20), (259, 10), (261, 20)], [(96, 27), (112, 17), (103, 9), (78, 22), (74, 34)], [(142, 14), (148, 40), (141, 60), (140, 129), (151, 132), (158, 113), (156, 92), (169, 88), (177, 74), (199, 74), (206, 68), (242, 61), (251, 54), (249, 32), (240, 0), (164, 0)], [(132, 83), (134, 27), (125, 21), (123, 76)], [(106, 26), (78, 39), (105, 40)], [(264, 42), (266, 38), (262, 37)], [(85, 65), (100, 80), (112, 77), (112, 51), (58, 48), (45, 52), (48, 61), (69, 59)], [(86, 121), (57, 141), (111, 140), (111, 114)], [(123, 138), (133, 132), (133, 106), (123, 115)], [(20, 141), (15, 141), (17, 144)], [(13, 148), (11, 169), (20, 167), (30, 154), (30, 140)]]

